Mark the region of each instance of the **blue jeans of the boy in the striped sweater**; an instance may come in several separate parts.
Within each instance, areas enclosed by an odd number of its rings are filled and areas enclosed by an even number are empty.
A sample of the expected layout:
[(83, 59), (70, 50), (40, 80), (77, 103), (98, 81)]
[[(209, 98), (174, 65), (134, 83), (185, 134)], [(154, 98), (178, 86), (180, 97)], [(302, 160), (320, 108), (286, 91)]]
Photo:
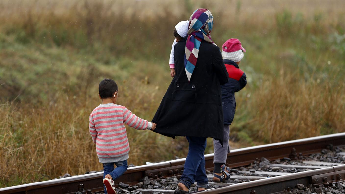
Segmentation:
[[(116, 165), (115, 169), (114, 164)], [(103, 178), (105, 178), (107, 174), (110, 174), (112, 180), (115, 181), (118, 177), (120, 177), (127, 171), (127, 167), (127, 160), (114, 163), (103, 163)], [(107, 194), (106, 186), (104, 186), (104, 193)]]

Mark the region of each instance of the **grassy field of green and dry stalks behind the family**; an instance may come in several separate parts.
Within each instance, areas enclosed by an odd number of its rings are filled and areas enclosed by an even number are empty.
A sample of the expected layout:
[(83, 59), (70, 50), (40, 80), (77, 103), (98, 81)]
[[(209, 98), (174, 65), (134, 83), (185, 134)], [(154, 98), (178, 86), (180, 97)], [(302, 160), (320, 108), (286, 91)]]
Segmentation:
[[(119, 104), (151, 119), (171, 80), (173, 26), (198, 7), (214, 14), (218, 46), (239, 38), (247, 49), (239, 145), (344, 131), (342, 1), (45, 2), (0, 3), (0, 187), (101, 170), (88, 133), (99, 81), (115, 79)], [(128, 137), (135, 165), (188, 151), (182, 138)]]

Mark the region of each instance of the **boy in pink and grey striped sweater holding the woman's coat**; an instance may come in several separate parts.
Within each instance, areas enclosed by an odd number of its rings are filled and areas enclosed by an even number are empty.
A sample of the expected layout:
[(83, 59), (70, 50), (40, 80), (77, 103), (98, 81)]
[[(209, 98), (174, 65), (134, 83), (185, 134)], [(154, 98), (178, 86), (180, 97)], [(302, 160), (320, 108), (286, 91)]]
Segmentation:
[(126, 172), (129, 153), (124, 124), (143, 130), (154, 130), (156, 124), (137, 117), (124, 106), (115, 104), (118, 88), (114, 80), (103, 79), (99, 83), (98, 92), (102, 104), (90, 114), (90, 134), (96, 144), (99, 162), (103, 163), (105, 193), (116, 194), (113, 180)]

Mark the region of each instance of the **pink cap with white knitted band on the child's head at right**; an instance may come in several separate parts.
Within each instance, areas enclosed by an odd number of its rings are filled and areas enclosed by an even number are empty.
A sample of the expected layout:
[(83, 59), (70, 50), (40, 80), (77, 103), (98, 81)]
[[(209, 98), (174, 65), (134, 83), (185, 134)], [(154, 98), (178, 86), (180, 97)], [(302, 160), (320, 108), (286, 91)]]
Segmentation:
[(243, 52), (246, 52), (246, 49), (242, 47), (241, 42), (236, 38), (227, 40), (223, 44), (222, 49), (221, 55), (223, 58), (234, 62), (240, 61), (243, 58)]

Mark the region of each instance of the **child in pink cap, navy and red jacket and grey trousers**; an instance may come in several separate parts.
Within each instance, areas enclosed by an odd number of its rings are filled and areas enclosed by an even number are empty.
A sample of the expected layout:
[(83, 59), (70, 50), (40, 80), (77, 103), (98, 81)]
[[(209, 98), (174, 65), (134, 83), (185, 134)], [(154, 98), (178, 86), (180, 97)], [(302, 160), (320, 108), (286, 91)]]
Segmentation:
[(233, 122), (236, 111), (235, 92), (244, 88), (247, 84), (246, 74), (238, 67), (246, 49), (242, 47), (238, 39), (231, 38), (227, 40), (221, 51), (226, 70), (228, 71), (228, 83), (221, 85), (221, 98), (224, 111), (224, 146), (221, 146), (218, 140), (213, 140), (214, 146), (214, 182), (224, 182), (230, 178), (228, 169), (225, 166), (226, 158), (230, 152), (229, 147), (229, 126)]

